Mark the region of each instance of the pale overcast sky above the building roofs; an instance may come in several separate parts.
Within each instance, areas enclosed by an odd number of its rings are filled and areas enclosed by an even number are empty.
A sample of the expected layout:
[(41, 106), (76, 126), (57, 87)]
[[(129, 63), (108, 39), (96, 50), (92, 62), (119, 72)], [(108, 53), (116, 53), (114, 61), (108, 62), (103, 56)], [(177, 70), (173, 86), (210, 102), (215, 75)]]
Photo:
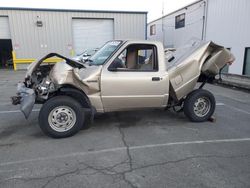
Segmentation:
[[(148, 22), (196, 0), (0, 0), (0, 7), (147, 11)], [(163, 10), (163, 11), (162, 11)]]

